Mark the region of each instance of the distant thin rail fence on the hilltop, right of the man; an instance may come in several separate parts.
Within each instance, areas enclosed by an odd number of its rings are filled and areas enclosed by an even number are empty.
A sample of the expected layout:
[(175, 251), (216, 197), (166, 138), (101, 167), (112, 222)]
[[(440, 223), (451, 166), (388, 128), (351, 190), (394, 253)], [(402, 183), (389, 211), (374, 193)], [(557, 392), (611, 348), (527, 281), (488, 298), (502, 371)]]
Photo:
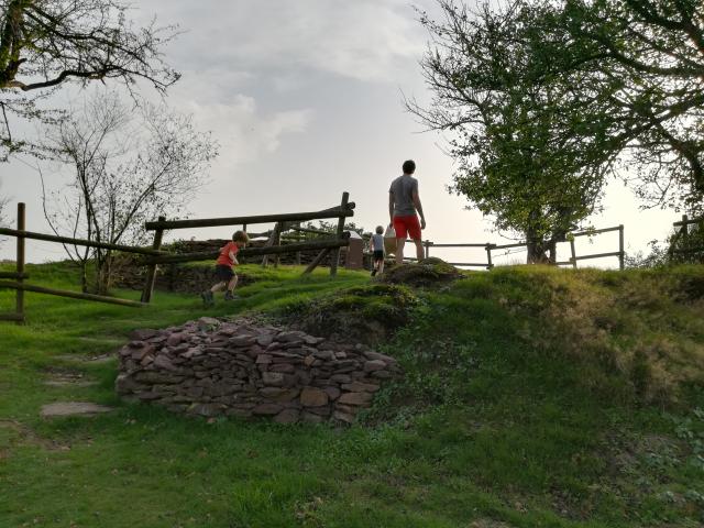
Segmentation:
[[(613, 231), (618, 231), (618, 251), (608, 252), (608, 253), (594, 253), (588, 255), (578, 255), (576, 249), (574, 244), (574, 239), (579, 237), (593, 237), (596, 234), (608, 233)], [(565, 242), (570, 243), (570, 252), (571, 256), (568, 261), (557, 262), (556, 265), (571, 265), (576, 268), (578, 261), (585, 261), (590, 258), (603, 258), (607, 256), (617, 256), (618, 257), (618, 266), (620, 270), (624, 268), (624, 260), (625, 260), (625, 250), (624, 250), (624, 227), (616, 226), (613, 228), (606, 229), (595, 229), (587, 231), (580, 231), (578, 233), (572, 233), (570, 239)], [(431, 248), (483, 248), (486, 251), (486, 262), (450, 262), (453, 266), (464, 266), (464, 267), (483, 267), (485, 270), (492, 270), (494, 267), (494, 260), (492, 252), (509, 250), (509, 249), (518, 249), (518, 248), (527, 248), (528, 244), (524, 242), (516, 242), (512, 244), (492, 244), (490, 242), (486, 243), (436, 243), (429, 240), (422, 242), (425, 248), (426, 258), (430, 256)], [(415, 258), (405, 258), (407, 261), (415, 261)]]

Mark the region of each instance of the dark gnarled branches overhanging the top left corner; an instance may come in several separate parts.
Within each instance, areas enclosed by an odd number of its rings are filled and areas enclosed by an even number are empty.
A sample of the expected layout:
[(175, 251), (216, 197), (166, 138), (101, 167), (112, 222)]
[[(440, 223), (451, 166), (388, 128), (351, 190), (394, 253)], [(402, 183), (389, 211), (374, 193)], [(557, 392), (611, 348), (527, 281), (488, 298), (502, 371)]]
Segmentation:
[(162, 58), (174, 28), (134, 26), (128, 8), (121, 0), (0, 0), (0, 158), (43, 153), (16, 138), (12, 123), (62, 119), (42, 100), (68, 81), (116, 79), (131, 90), (145, 79), (163, 92), (178, 79)]

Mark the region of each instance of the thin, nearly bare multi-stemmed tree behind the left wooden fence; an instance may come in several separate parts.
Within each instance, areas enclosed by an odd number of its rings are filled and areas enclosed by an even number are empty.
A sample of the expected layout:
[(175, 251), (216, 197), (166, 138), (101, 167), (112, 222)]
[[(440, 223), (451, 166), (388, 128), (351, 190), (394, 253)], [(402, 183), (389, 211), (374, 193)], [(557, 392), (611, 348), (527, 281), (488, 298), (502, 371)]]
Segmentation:
[[(55, 233), (111, 244), (144, 243), (145, 220), (182, 212), (201, 187), (204, 170), (217, 155), (210, 135), (164, 106), (133, 110), (114, 92), (100, 94), (50, 133), (51, 148), (73, 167), (65, 188), (44, 193), (45, 217)], [(107, 293), (114, 253), (65, 249), (81, 266), (84, 290), (87, 266), (95, 261), (96, 290)]]

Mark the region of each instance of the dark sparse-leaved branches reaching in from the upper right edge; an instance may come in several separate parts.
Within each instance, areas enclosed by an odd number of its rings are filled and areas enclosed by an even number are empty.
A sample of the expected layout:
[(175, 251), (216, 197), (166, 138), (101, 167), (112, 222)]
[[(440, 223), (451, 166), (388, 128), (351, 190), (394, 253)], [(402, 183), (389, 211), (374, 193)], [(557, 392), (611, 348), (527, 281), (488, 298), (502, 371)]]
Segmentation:
[[(704, 3), (565, 0), (563, 26), (582, 53), (564, 73), (607, 95), (624, 158), (647, 205), (702, 212)], [(614, 86), (619, 89), (614, 91)]]

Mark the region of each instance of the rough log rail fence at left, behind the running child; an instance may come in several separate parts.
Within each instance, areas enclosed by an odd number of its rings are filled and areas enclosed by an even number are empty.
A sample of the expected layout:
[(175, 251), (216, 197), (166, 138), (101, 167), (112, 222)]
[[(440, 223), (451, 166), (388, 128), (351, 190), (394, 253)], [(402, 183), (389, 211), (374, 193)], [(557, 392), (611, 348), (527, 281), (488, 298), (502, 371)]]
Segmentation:
[[(59, 297), (68, 297), (74, 299), (82, 299), (98, 302), (109, 302), (113, 305), (141, 307), (148, 304), (154, 293), (154, 283), (156, 279), (157, 266), (160, 264), (174, 264), (179, 262), (198, 262), (217, 258), (219, 252), (202, 252), (188, 254), (167, 254), (162, 251), (162, 242), (164, 232), (169, 229), (185, 228), (207, 228), (223, 226), (242, 226), (246, 230), (248, 226), (260, 223), (276, 222), (273, 230), (277, 233), (274, 238), (270, 238), (270, 242), (264, 248), (251, 248), (240, 251), (242, 256), (268, 256), (279, 255), (284, 253), (297, 253), (300, 251), (319, 251), (320, 253), (310, 263), (304, 273), (310, 273), (322, 262), (326, 256), (332, 253), (332, 264), (330, 274), (334, 276), (338, 271), (340, 260), (340, 250), (349, 245), (350, 233), (344, 231), (344, 223), (348, 217), (354, 216), (354, 202), (349, 201), (350, 195), (343, 193), (340, 206), (336, 206), (321, 211), (293, 212), (278, 215), (260, 215), (249, 217), (230, 217), (230, 218), (212, 218), (212, 219), (195, 219), (195, 220), (166, 220), (160, 217), (157, 221), (146, 222), (145, 227), (148, 231), (154, 231), (154, 241), (152, 248), (136, 248), (130, 245), (111, 244), (107, 242), (95, 242), (90, 240), (74, 239), (68, 237), (58, 237), (54, 234), (36, 233), (26, 231), (25, 226), (25, 206), (18, 204), (18, 221), (16, 229), (0, 228), (0, 235), (14, 237), (16, 239), (16, 270), (14, 272), (0, 272), (0, 288), (14, 289), (16, 295), (15, 311), (12, 314), (0, 314), (0, 321), (16, 321), (23, 323), (25, 321), (24, 314), (24, 292), (33, 292), (44, 295), (54, 295)], [(301, 222), (318, 219), (338, 219), (338, 228), (334, 237), (315, 240), (310, 242), (290, 243), (280, 245), (280, 233), (288, 229), (287, 222)], [(98, 248), (123, 253), (134, 253), (142, 256), (141, 264), (147, 267), (146, 280), (142, 290), (141, 301), (120, 299), (117, 297), (108, 297), (102, 295), (84, 294), (79, 292), (63, 290), (48, 288), (44, 286), (35, 286), (28, 284), (25, 280), (30, 276), (25, 273), (25, 240), (40, 240), (46, 242), (55, 242), (61, 244), (72, 244), (85, 248)]]

